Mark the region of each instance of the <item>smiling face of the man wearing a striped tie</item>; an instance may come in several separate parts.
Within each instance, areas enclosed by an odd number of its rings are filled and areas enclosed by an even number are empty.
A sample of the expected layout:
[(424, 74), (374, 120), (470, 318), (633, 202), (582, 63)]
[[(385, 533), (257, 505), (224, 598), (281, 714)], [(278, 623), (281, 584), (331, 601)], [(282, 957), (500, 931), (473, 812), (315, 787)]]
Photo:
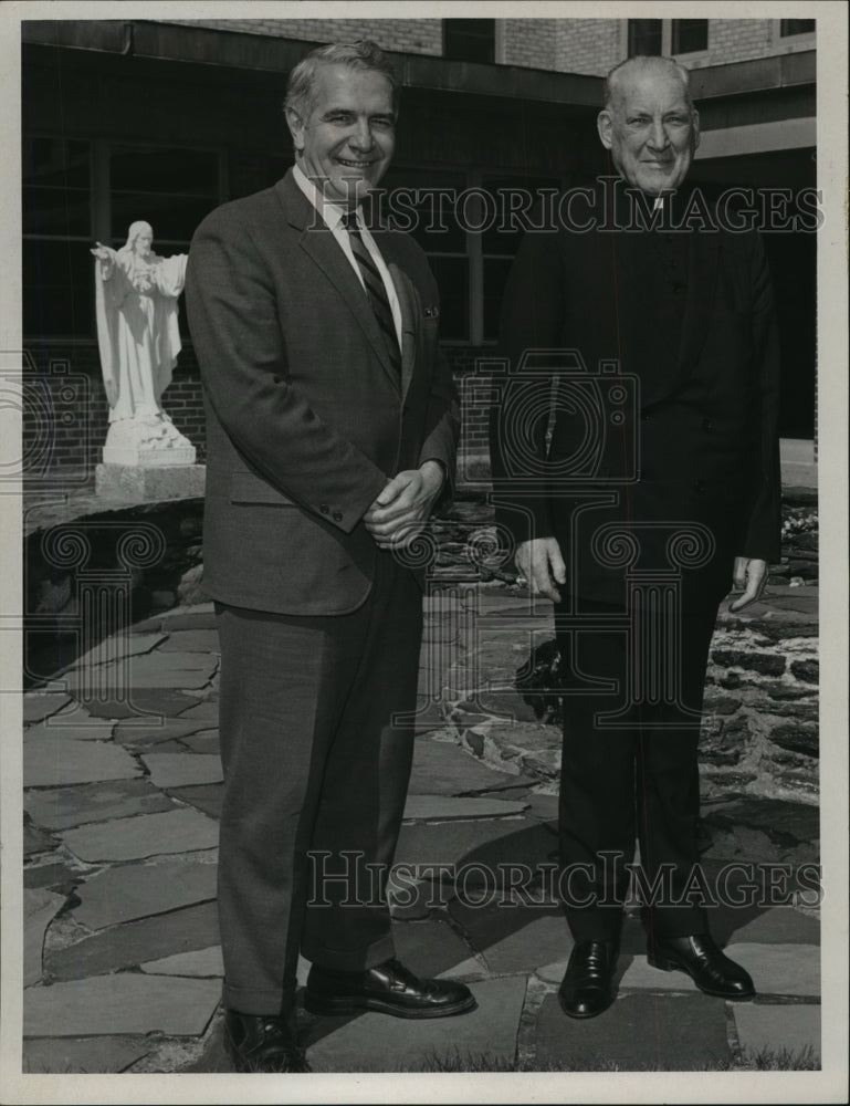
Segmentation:
[(395, 148), (392, 88), (382, 73), (326, 64), (316, 70), (306, 119), (290, 108), (298, 165), (327, 199), (355, 208), (376, 188)]

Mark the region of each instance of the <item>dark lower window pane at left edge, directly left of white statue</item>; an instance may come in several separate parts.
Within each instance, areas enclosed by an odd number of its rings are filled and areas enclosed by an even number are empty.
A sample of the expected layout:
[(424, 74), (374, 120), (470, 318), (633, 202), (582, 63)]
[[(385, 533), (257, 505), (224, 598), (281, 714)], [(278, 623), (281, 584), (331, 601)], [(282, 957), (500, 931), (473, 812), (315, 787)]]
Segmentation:
[(24, 337), (95, 337), (94, 259), (88, 249), (87, 242), (24, 239)]

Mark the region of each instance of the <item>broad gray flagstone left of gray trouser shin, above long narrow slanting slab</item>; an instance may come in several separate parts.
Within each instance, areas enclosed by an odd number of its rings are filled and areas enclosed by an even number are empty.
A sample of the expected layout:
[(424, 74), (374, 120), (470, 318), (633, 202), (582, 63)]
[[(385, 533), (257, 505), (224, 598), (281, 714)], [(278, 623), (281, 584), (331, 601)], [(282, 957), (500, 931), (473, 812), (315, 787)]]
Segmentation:
[(77, 888), (73, 914), (88, 929), (165, 914), (216, 898), (216, 865), (197, 860), (123, 864), (86, 879)]

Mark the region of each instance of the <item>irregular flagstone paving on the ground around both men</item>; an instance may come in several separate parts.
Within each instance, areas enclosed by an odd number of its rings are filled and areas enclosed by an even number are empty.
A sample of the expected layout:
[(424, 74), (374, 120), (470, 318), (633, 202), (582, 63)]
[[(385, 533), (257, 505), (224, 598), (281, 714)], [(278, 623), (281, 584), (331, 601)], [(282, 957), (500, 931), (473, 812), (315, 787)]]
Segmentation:
[[(507, 686), (506, 644), (517, 657), (517, 643), (527, 650), (548, 608), (529, 611), (515, 588), (500, 587), (465, 588), (463, 603), (502, 622), (482, 640), (482, 656), (492, 647), (491, 678)], [(316, 1018), (300, 1005), (314, 1070), (683, 1071), (734, 1067), (767, 1047), (811, 1045), (819, 1055), (819, 919), (810, 904), (766, 908), (744, 898), (716, 911), (718, 940), (759, 989), (748, 1003), (709, 998), (682, 972), (650, 968), (629, 907), (616, 1002), (599, 1019), (565, 1018), (557, 988), (571, 938), (547, 884), (557, 794), (546, 774), (557, 740), (512, 691), (491, 684), (470, 698), (458, 602), (426, 603), (424, 709), (391, 901), (399, 958), (422, 974), (468, 981), (478, 1008), (402, 1021)], [(80, 680), (94, 669), (82, 660), (64, 674), (80, 699), (54, 690), (23, 698), (23, 1070), (228, 1072), (214, 902), (222, 784), (212, 607), (153, 616), (122, 640), (139, 676), (130, 702), (86, 701)], [(106, 661), (102, 676), (109, 662), (122, 667), (114, 645), (90, 658)], [(434, 698), (445, 688), (449, 700)], [(811, 855), (819, 832), (816, 808), (779, 800), (721, 797), (706, 816), (715, 833), (710, 880), (747, 847), (788, 864), (802, 846)], [(300, 961), (301, 985), (307, 968)]]

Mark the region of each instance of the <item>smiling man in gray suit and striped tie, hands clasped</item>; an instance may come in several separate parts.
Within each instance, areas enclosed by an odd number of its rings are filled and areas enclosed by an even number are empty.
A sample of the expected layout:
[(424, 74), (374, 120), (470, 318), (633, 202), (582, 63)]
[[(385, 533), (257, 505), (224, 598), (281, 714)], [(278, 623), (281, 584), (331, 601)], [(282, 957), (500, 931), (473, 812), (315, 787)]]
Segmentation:
[(450, 490), (458, 435), (424, 255), (405, 234), (370, 233), (361, 211), (392, 157), (397, 93), (374, 43), (309, 54), (286, 95), (294, 168), (213, 211), (189, 254), (239, 1071), (308, 1070), (294, 1035), (300, 952), (316, 1013), (474, 1005), (462, 984), (395, 959), (386, 901), (421, 639), (403, 544)]

